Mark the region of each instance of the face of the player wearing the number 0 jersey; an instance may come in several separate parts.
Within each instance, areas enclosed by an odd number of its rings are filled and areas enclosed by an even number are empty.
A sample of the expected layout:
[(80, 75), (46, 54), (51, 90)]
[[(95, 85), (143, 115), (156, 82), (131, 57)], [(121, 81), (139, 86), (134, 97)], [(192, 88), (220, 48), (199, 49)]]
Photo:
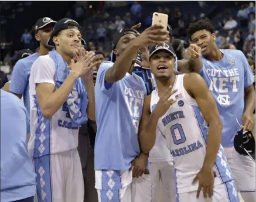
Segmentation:
[(156, 79), (169, 79), (174, 72), (175, 58), (173, 54), (159, 50), (151, 56), (150, 67)]

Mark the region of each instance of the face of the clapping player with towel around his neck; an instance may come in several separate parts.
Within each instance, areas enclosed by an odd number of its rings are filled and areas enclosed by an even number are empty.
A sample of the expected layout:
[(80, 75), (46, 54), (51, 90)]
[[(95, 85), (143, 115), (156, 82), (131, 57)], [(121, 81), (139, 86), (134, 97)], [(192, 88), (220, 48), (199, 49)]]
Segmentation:
[(53, 38), (56, 49), (73, 57), (73, 53), (81, 47), (81, 33), (76, 27), (62, 30), (58, 36)]

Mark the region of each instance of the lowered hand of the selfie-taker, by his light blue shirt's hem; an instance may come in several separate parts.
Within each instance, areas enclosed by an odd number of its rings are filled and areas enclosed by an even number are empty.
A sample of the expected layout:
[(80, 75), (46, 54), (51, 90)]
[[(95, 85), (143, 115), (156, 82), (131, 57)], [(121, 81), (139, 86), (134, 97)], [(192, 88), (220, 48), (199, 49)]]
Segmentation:
[(148, 156), (144, 153), (141, 153), (137, 158), (132, 161), (132, 177), (141, 177), (144, 174), (146, 169), (146, 160)]

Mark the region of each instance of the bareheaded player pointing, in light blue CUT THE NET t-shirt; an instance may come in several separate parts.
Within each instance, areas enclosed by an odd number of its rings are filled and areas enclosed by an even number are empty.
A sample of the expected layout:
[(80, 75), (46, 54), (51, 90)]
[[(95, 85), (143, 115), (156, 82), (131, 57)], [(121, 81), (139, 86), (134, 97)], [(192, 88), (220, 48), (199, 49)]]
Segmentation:
[(189, 71), (199, 73), (213, 94), (223, 122), (221, 145), (238, 191), (245, 202), (255, 202), (255, 162), (234, 149), (234, 136), (240, 125), (245, 131), (251, 131), (253, 126), (255, 90), (248, 61), (240, 50), (219, 50), (214, 27), (206, 20), (190, 23), (188, 35), (193, 43), (188, 52), (190, 60), (200, 64)]

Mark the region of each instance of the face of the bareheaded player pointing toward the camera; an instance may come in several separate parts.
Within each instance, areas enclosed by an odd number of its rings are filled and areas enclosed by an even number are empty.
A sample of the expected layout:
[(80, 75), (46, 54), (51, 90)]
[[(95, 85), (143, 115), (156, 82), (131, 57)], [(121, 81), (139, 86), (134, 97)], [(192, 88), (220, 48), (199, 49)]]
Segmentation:
[(202, 55), (209, 55), (215, 44), (216, 35), (215, 33), (210, 33), (209, 31), (203, 29), (195, 32), (192, 36), (192, 43), (196, 44), (202, 49)]

